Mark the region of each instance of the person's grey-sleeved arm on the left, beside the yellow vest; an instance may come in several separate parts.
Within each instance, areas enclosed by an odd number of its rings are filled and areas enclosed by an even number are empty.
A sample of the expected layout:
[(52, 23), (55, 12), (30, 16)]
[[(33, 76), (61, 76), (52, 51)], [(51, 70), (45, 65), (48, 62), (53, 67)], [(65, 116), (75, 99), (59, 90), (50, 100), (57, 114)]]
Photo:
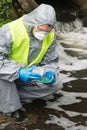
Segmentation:
[(22, 66), (8, 58), (12, 43), (9, 27), (3, 26), (0, 29), (0, 79), (10, 82), (18, 78), (18, 70)]

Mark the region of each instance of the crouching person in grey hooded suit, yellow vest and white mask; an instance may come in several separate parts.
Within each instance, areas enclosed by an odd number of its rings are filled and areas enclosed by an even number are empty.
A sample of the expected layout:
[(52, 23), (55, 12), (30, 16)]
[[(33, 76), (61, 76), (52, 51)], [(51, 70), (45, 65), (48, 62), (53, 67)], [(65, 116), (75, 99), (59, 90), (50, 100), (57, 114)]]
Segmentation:
[(23, 122), (22, 102), (56, 93), (58, 78), (55, 10), (41, 4), (0, 28), (0, 112)]

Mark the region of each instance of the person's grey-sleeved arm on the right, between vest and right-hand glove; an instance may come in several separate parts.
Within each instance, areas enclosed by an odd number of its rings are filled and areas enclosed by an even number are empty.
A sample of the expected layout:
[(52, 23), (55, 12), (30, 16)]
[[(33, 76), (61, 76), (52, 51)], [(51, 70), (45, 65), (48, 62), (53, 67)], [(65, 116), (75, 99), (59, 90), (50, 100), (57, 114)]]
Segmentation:
[(59, 74), (59, 67), (58, 67), (58, 46), (56, 43), (56, 39), (48, 49), (46, 55), (44, 56), (42, 62), (40, 63), (40, 66), (44, 68), (44, 72), (52, 71), (55, 73), (55, 76), (57, 78)]

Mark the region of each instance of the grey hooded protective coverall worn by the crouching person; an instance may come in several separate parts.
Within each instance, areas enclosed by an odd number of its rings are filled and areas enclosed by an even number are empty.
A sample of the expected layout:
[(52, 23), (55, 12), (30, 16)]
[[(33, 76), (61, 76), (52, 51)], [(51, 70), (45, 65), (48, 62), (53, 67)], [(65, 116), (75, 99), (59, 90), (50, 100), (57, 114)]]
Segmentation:
[[(41, 41), (33, 36), (32, 29), (42, 24), (54, 26), (56, 23), (55, 11), (50, 5), (41, 4), (31, 13), (24, 15), (23, 23), (30, 37), (30, 63), (39, 54), (42, 46)], [(45, 71), (53, 70), (56, 73), (56, 82), (51, 86), (44, 85), (40, 81), (24, 83), (19, 80), (18, 70), (24, 65), (8, 58), (12, 43), (9, 26), (4, 25), (0, 28), (0, 112), (3, 113), (14, 112), (22, 108), (21, 101), (29, 102), (42, 98), (62, 88), (58, 78), (58, 50), (55, 40), (41, 63), (38, 64)]]

